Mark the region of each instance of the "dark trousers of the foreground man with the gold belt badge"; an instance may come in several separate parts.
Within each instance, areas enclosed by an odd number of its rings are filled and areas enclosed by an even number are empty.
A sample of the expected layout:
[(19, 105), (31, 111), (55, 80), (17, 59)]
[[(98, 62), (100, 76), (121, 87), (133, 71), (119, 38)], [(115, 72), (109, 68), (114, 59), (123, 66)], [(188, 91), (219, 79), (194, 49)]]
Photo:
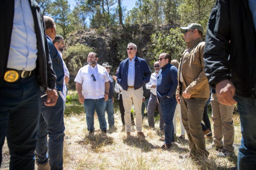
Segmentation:
[(36, 133), (41, 113), (37, 76), (0, 85), (0, 166), (5, 136), (10, 152), (10, 170), (35, 169)]

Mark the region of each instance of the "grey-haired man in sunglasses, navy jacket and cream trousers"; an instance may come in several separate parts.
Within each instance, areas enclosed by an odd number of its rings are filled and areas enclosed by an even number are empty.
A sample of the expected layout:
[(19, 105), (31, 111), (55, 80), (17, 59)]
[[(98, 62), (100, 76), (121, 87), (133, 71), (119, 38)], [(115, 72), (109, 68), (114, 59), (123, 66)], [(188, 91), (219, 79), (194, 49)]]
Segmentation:
[(127, 137), (131, 135), (131, 109), (132, 103), (136, 113), (137, 135), (145, 137), (142, 132), (141, 105), (143, 98), (142, 85), (149, 82), (151, 71), (147, 62), (136, 56), (137, 46), (133, 43), (127, 45), (128, 58), (122, 61), (116, 73), (117, 83), (123, 88), (124, 122)]

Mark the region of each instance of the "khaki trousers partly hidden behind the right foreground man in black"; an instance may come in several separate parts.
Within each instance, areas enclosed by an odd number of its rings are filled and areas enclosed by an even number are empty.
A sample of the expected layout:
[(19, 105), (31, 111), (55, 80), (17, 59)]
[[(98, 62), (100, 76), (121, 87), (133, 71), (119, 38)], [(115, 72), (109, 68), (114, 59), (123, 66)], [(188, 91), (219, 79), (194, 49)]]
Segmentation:
[[(213, 141), (212, 144), (217, 147), (223, 147), (223, 149), (234, 152), (234, 125), (233, 125), (233, 106), (226, 106), (220, 104), (217, 99), (216, 93), (212, 93), (212, 121), (213, 121)], [(224, 141), (222, 143), (222, 138)]]

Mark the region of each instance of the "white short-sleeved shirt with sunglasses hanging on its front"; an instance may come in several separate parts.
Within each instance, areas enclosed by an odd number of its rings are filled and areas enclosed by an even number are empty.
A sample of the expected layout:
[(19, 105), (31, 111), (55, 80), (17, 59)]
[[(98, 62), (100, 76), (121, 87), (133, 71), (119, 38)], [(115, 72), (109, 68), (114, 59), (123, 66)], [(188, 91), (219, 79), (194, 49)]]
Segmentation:
[[(93, 81), (92, 74), (96, 81)], [(105, 82), (110, 80), (105, 67), (96, 64), (94, 68), (89, 64), (82, 67), (75, 78), (75, 82), (82, 84), (84, 99), (100, 99), (104, 97)]]

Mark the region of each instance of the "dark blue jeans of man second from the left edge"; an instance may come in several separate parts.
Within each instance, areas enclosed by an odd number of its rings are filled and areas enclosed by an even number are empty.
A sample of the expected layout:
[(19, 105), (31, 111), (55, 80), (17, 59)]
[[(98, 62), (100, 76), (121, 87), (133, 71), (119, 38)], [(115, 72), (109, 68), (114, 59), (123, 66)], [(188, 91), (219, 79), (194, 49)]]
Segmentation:
[[(51, 169), (63, 168), (63, 141), (64, 141), (64, 102), (61, 96), (55, 106), (45, 106), (46, 96), (42, 98), (42, 114), (39, 118), (39, 128), (36, 135), (37, 163), (44, 165), (50, 163)], [(47, 134), (49, 141), (47, 144)], [(47, 153), (49, 150), (49, 154)]]

